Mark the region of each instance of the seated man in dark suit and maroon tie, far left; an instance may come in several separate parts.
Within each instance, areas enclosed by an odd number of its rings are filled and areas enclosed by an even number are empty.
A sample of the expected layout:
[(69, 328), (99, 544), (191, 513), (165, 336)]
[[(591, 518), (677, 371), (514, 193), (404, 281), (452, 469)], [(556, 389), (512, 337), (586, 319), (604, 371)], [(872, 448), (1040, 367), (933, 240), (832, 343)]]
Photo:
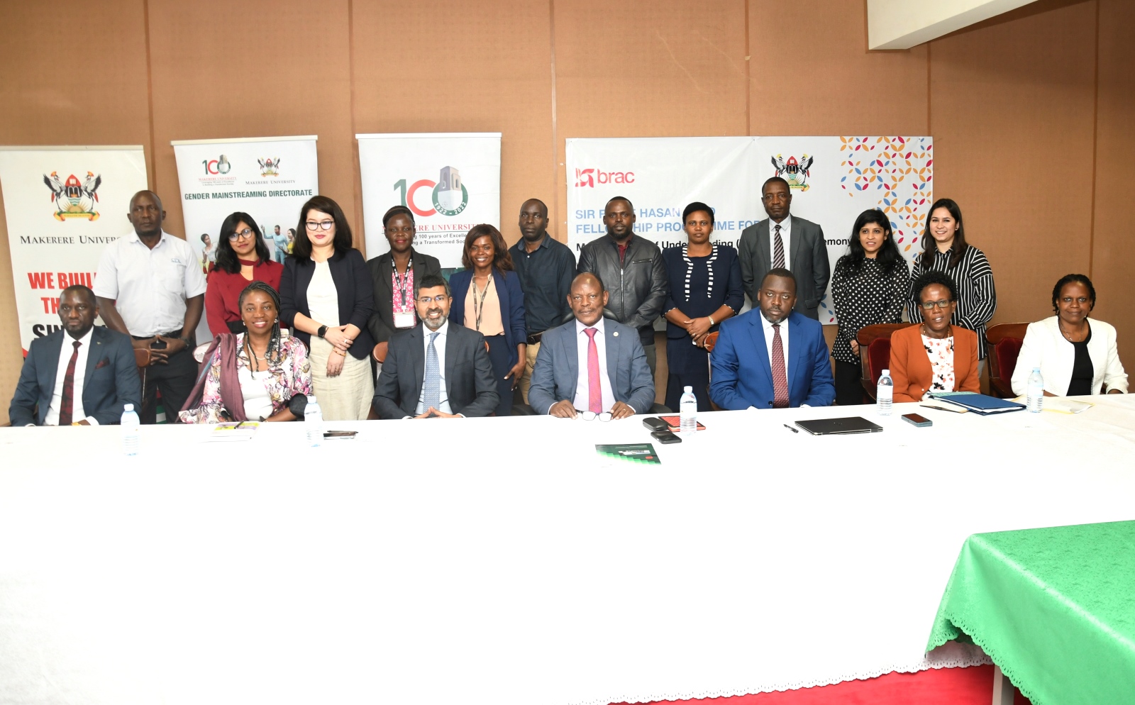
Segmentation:
[(95, 327), (98, 316), (94, 292), (82, 285), (64, 289), (64, 329), (28, 346), (8, 408), (12, 426), (118, 423), (124, 404), (138, 408), (142, 385), (131, 337)]

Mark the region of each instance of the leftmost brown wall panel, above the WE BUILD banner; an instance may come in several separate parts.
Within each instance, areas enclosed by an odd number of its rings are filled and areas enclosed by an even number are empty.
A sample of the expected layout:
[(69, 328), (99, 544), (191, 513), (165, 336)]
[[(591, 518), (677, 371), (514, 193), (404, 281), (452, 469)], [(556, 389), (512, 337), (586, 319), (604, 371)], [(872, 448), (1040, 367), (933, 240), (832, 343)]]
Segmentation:
[[(50, 16), (44, 15), (48, 7)], [(7, 30), (0, 42), (0, 144), (142, 144), (152, 169), (141, 0), (98, 10), (73, 0), (5, 2), (0, 26)], [(124, 229), (126, 210), (121, 204)], [(18, 329), (2, 202), (0, 329)], [(0, 423), (8, 422), (8, 401), (23, 363), (19, 336), (3, 336)]]

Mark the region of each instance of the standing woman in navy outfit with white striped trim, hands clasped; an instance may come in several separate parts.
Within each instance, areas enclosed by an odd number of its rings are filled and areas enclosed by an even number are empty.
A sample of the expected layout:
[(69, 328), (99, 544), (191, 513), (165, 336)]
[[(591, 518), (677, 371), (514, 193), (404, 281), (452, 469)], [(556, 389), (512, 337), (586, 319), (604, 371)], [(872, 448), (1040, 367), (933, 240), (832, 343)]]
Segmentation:
[(713, 209), (701, 202), (682, 211), (687, 244), (662, 251), (673, 283), (666, 296), (666, 406), (681, 405), (682, 389), (693, 387), (698, 411), (709, 405), (709, 354), (705, 337), (745, 305), (737, 250), (709, 242)]

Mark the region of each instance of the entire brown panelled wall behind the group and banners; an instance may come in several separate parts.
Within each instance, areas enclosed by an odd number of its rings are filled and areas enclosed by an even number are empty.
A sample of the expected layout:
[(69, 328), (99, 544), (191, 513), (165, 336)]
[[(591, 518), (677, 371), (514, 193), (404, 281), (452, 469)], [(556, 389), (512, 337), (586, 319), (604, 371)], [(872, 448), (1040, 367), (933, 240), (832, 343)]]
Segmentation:
[[(82, 23), (47, 8), (0, 5), (0, 144), (145, 145), (178, 235), (170, 140), (319, 135), (320, 188), (354, 215), (361, 243), (355, 133), (502, 132), (510, 241), (530, 196), (552, 205), (563, 237), (565, 137), (930, 134), (934, 193), (961, 204), (993, 266), (994, 320), (1045, 316), (1052, 283), (1083, 271), (1135, 366), (1135, 311), (1121, 303), (1135, 183), (1128, 0), (1041, 0), (898, 52), (866, 50), (854, 0), (50, 6)], [(0, 240), (7, 272), (2, 218)], [(15, 322), (3, 274), (0, 329)], [(20, 363), (16, 337), (3, 338), (3, 400)]]

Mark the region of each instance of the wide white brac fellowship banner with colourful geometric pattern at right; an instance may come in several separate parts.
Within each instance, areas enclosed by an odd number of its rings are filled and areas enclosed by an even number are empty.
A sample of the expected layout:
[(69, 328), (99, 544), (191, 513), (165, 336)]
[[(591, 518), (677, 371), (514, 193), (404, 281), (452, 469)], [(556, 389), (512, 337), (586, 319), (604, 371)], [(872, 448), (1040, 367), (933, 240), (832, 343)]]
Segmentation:
[[(603, 209), (623, 195), (634, 204), (634, 232), (666, 247), (686, 242), (682, 209), (714, 209), (714, 242), (738, 246), (741, 230), (767, 216), (760, 186), (782, 176), (792, 213), (819, 224), (827, 257), (848, 250), (856, 217), (871, 208), (890, 218), (899, 250), (918, 251), (933, 203), (931, 137), (630, 137), (568, 140), (568, 244), (579, 249), (606, 233)], [(819, 322), (834, 324), (829, 294)]]

